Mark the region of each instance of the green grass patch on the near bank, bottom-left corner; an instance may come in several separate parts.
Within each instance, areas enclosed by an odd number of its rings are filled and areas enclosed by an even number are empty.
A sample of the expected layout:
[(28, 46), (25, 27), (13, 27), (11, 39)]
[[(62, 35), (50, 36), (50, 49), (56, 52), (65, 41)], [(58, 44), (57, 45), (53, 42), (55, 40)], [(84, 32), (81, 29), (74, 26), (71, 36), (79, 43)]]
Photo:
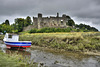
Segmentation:
[(0, 51), (0, 67), (37, 67), (37, 63), (28, 63), (27, 59), (17, 52), (5, 54)]

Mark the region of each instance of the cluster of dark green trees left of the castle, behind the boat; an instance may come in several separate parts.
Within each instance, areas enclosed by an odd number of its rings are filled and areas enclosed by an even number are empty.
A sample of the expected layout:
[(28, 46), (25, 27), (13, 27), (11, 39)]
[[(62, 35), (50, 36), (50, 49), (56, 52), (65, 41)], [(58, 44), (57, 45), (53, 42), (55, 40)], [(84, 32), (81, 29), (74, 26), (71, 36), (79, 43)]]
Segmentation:
[(10, 25), (9, 20), (5, 20), (4, 23), (0, 24), (0, 32), (2, 33), (11, 33), (11, 32), (22, 32), (25, 26), (31, 24), (31, 18), (28, 16), (26, 19), (17, 18), (15, 19), (15, 23)]

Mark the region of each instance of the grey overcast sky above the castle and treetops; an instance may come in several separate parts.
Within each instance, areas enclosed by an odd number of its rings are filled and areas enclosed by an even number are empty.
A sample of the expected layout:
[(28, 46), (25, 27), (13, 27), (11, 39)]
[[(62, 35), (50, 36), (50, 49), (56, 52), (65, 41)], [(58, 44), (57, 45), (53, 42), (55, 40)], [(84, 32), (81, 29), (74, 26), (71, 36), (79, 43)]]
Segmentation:
[(77, 23), (100, 30), (100, 0), (0, 0), (0, 23), (26, 16), (66, 14)]

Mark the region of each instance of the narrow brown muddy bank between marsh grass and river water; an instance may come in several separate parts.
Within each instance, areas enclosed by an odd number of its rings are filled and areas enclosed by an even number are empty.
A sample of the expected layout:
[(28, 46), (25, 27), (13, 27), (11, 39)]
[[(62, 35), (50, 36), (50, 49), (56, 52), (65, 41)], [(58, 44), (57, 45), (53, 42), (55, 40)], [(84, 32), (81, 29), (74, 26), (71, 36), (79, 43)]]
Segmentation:
[(100, 56), (99, 51), (87, 51), (87, 52), (74, 52), (74, 51), (66, 51), (64, 49), (56, 49), (56, 48), (50, 48), (50, 47), (40, 47), (40, 46), (35, 46), (32, 45), (31, 49), (41, 49), (45, 51), (50, 51), (50, 52), (55, 52), (55, 53), (76, 53), (76, 54), (81, 54), (81, 55), (95, 55), (95, 56)]

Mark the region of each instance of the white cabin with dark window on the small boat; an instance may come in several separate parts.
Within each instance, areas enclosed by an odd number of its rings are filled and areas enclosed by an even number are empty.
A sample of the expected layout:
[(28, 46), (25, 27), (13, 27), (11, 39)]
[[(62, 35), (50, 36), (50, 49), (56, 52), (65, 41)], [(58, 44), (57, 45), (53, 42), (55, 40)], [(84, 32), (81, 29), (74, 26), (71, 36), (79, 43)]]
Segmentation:
[(19, 41), (19, 35), (17, 34), (12, 34), (12, 33), (6, 33), (4, 39), (4, 41)]

